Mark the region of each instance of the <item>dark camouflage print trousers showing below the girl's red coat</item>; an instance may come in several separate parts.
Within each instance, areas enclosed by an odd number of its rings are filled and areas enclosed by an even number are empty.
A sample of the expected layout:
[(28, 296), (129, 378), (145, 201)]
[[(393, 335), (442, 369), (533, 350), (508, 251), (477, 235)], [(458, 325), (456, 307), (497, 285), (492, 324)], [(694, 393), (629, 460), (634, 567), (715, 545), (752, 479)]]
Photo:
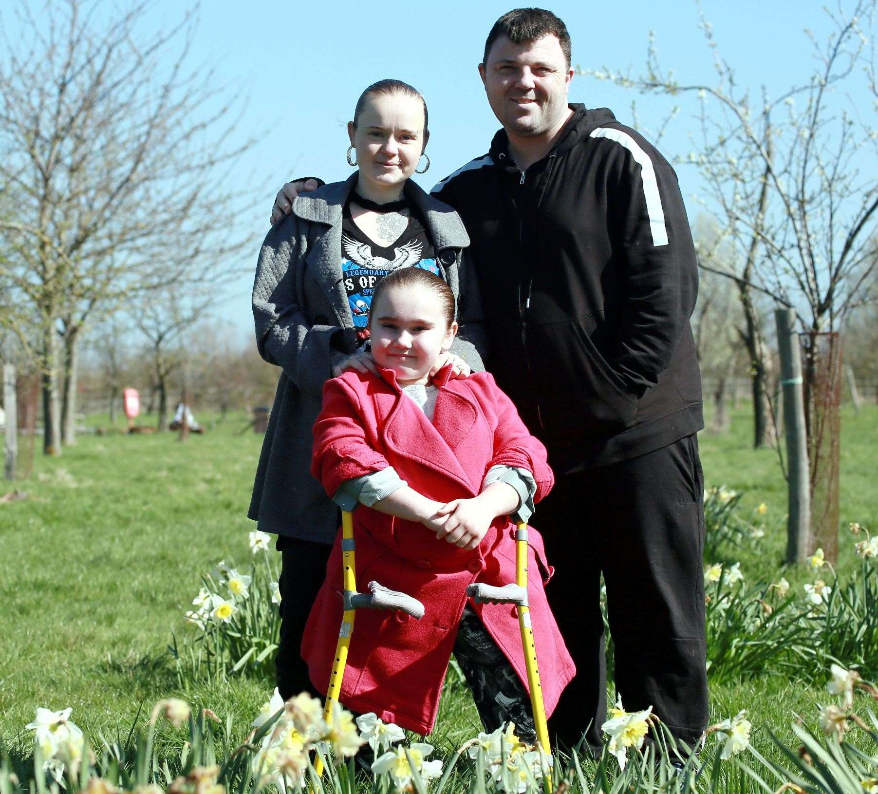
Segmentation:
[(487, 733), (507, 722), (529, 744), (536, 742), (530, 697), (506, 656), (488, 633), (485, 624), (469, 607), (457, 629), (454, 658), (472, 690), (482, 725)]

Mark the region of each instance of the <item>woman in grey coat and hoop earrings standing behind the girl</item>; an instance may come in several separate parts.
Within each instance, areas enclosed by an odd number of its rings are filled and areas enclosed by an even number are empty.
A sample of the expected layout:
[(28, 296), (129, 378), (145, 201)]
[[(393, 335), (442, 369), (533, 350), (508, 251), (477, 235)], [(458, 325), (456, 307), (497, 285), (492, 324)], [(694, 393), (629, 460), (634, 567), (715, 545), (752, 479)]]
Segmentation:
[(248, 516), (277, 534), (282, 552), (276, 666), (284, 699), (313, 691), (299, 646), (339, 524), (309, 473), (313, 422), (327, 379), (346, 368), (374, 371), (368, 315), (381, 278), (405, 267), (443, 278), (464, 300), (460, 334), (436, 369), (483, 369), (478, 288), (464, 263), (469, 237), (457, 213), (409, 180), (429, 136), (423, 97), (398, 80), (374, 83), (356, 103), (348, 135), (356, 172), (295, 200), (263, 242), (253, 288), (256, 344), (283, 370)]

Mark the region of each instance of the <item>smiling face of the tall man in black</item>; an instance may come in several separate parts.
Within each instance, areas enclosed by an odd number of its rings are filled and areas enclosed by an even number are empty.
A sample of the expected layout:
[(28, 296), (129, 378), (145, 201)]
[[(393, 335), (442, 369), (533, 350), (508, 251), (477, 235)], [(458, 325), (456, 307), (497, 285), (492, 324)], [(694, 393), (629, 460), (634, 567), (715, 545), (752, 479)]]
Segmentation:
[(573, 70), (558, 37), (547, 34), (515, 44), (500, 36), (479, 75), (494, 115), (510, 135), (529, 138), (553, 133), (567, 113)]

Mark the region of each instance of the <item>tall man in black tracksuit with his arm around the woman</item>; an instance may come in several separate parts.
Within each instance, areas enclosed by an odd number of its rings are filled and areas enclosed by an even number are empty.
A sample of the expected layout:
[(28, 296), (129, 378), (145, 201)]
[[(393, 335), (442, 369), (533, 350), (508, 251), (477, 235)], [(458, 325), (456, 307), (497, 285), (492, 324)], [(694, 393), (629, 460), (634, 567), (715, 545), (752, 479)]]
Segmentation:
[(601, 746), (602, 573), (625, 709), (651, 705), (691, 745), (708, 716), (694, 247), (666, 160), (607, 109), (567, 104), (570, 50), (550, 11), (493, 25), (479, 75), (503, 128), (434, 191), (471, 237), (486, 364), (557, 474), (534, 523), (577, 675), (551, 733)]

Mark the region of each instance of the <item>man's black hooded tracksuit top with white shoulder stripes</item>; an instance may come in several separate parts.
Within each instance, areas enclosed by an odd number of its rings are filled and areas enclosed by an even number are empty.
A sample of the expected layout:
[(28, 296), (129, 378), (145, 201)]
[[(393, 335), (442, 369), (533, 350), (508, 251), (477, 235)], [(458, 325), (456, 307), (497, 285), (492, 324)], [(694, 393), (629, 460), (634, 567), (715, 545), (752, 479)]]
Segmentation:
[(702, 429), (698, 274), (677, 177), (606, 108), (571, 105), (521, 171), (498, 132), (434, 188), (471, 237), (486, 361), (559, 473)]

